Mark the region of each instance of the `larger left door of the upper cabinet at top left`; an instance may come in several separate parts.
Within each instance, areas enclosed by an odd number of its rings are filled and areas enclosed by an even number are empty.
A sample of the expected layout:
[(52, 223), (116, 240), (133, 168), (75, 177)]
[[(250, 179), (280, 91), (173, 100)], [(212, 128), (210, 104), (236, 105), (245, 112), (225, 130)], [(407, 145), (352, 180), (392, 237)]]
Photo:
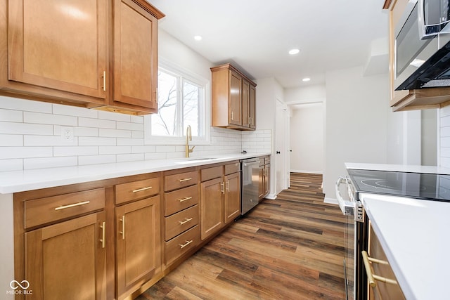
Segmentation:
[(106, 0), (8, 1), (8, 79), (105, 98)]

